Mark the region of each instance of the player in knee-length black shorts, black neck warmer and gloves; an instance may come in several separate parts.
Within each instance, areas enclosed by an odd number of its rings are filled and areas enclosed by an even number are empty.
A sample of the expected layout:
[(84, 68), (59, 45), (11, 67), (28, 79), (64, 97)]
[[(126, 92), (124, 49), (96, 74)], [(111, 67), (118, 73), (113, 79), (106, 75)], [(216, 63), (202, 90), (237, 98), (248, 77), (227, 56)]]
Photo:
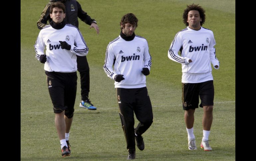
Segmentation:
[(62, 156), (65, 157), (70, 155), (68, 137), (76, 97), (76, 55), (87, 55), (88, 47), (79, 30), (65, 23), (63, 3), (52, 3), (50, 16), (53, 21), (40, 31), (34, 47), (36, 58), (45, 64), (48, 90), (55, 113), (55, 126), (61, 142)]

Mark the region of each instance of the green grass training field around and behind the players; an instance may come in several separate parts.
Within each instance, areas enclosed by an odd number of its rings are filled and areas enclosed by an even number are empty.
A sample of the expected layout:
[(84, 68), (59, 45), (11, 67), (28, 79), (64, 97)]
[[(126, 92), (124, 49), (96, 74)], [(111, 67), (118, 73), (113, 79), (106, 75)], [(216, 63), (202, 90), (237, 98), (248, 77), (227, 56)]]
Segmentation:
[[(143, 134), (145, 150), (136, 160), (235, 160), (235, 0), (194, 0), (206, 10), (203, 27), (216, 40), (220, 69), (213, 70), (214, 110), (209, 136), (211, 152), (200, 149), (201, 108), (195, 112), (194, 134), (197, 150), (188, 150), (187, 131), (181, 103), (181, 64), (167, 56), (175, 34), (184, 29), (182, 14), (189, 0), (78, 0), (84, 11), (96, 19), (94, 29), (79, 21), (89, 47), (90, 99), (96, 111), (79, 108), (80, 80), (72, 127), (71, 156), (62, 158), (54, 125), (54, 113), (46, 85), (44, 65), (35, 58), (34, 43), (39, 34), (37, 21), (48, 0), (21, 0), (21, 160), (24, 161), (119, 161), (126, 160), (126, 142), (118, 115), (114, 81), (105, 74), (105, 50), (119, 33), (126, 13), (139, 19), (136, 35), (147, 39), (152, 56), (147, 88), (154, 114), (152, 126)], [(79, 74), (78, 74), (79, 75)], [(135, 122), (137, 124), (138, 121)]]

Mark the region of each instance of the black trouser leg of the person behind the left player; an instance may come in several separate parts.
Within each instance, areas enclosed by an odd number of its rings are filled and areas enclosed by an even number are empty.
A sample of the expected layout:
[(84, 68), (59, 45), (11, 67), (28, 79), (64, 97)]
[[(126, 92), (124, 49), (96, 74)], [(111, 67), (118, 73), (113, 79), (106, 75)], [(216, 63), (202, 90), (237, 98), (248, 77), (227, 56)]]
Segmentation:
[(86, 56), (78, 56), (77, 59), (77, 70), (80, 73), (80, 82), (81, 82), (81, 100), (86, 99), (89, 96), (90, 92), (90, 73), (89, 73), (89, 64), (87, 62)]

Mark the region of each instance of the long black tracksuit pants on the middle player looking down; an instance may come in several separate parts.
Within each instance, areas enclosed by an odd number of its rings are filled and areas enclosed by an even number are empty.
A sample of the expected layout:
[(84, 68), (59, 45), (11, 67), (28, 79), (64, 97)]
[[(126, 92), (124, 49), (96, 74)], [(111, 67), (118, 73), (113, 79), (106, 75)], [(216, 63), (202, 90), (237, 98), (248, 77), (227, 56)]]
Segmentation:
[[(135, 133), (142, 135), (153, 122), (152, 105), (147, 87), (116, 88), (119, 115), (124, 130), (127, 149), (135, 152)], [(139, 123), (134, 129), (134, 113)]]

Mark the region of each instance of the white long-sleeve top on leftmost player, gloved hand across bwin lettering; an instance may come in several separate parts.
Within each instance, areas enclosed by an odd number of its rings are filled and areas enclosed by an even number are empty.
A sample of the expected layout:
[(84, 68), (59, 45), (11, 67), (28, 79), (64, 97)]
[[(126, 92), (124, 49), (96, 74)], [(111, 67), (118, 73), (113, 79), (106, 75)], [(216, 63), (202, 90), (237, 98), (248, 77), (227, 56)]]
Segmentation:
[[(71, 45), (71, 49), (62, 49), (59, 41), (66, 41)], [(38, 60), (39, 56), (44, 54), (45, 46), (47, 61), (44, 69), (49, 72), (75, 72), (76, 55), (85, 56), (89, 50), (78, 28), (70, 24), (59, 30), (49, 25), (40, 31), (34, 45)]]

